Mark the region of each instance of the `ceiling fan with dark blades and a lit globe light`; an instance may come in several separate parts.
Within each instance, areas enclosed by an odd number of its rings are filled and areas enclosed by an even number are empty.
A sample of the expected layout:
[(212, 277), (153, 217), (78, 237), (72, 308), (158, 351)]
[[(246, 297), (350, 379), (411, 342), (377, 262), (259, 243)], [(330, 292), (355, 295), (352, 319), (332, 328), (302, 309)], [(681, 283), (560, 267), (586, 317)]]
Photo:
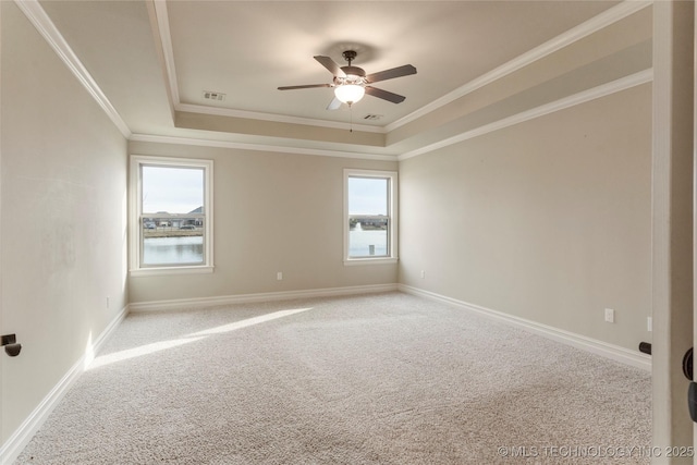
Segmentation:
[(334, 79), (331, 84), (307, 84), (304, 86), (284, 86), (279, 87), (279, 90), (292, 90), (292, 89), (307, 89), (313, 87), (333, 87), (334, 99), (329, 103), (327, 110), (337, 110), (341, 107), (341, 103), (347, 103), (351, 107), (363, 98), (365, 94), (374, 97), (381, 98), (383, 100), (391, 101), (392, 103), (401, 103), (406, 97), (393, 94), (388, 90), (382, 90), (377, 87), (372, 87), (369, 84), (380, 81), (393, 79), (395, 77), (408, 76), (409, 74), (416, 74), (416, 68), (411, 64), (393, 68), (391, 70), (384, 70), (372, 74), (366, 74), (363, 69), (353, 66), (351, 62), (357, 57), (357, 52), (354, 50), (346, 50), (342, 53), (344, 59), (348, 62), (347, 66), (339, 66), (329, 57), (317, 56), (317, 60), (322, 66), (329, 70), (334, 75)]

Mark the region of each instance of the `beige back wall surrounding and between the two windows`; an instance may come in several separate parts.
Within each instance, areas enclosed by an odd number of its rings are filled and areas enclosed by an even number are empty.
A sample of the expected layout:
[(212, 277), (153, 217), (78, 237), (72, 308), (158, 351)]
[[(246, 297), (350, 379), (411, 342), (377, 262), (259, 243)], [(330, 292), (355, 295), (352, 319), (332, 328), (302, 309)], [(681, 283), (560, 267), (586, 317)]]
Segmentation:
[(130, 152), (215, 164), (215, 272), (133, 277), (132, 303), (396, 282), (396, 265), (346, 267), (342, 256), (343, 169), (396, 162), (143, 142)]

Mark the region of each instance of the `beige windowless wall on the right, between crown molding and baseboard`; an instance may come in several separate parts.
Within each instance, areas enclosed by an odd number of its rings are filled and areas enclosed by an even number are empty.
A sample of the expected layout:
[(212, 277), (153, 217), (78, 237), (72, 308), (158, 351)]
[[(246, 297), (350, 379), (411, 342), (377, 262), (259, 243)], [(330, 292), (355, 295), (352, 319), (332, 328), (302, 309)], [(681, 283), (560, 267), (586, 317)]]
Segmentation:
[(650, 84), (405, 160), (400, 182), (401, 283), (650, 341)]

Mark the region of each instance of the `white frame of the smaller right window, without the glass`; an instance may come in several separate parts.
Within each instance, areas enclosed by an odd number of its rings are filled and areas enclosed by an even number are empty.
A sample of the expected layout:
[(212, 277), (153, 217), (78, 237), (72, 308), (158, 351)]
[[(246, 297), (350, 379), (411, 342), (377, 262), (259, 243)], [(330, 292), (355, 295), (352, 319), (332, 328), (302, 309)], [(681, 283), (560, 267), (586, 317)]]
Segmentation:
[[(348, 179), (376, 178), (389, 181), (388, 191), (388, 248), (389, 254), (381, 257), (350, 257), (348, 256)], [(396, 264), (398, 255), (398, 172), (377, 170), (344, 169), (344, 265), (386, 265)]]

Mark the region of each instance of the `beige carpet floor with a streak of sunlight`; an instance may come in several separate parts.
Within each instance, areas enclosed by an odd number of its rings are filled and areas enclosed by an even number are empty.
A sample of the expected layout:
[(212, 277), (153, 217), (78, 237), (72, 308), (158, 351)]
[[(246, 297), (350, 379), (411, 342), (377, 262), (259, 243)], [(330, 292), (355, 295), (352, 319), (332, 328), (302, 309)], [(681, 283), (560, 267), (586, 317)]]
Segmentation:
[(131, 314), (16, 463), (641, 464), (650, 393), (402, 293)]

